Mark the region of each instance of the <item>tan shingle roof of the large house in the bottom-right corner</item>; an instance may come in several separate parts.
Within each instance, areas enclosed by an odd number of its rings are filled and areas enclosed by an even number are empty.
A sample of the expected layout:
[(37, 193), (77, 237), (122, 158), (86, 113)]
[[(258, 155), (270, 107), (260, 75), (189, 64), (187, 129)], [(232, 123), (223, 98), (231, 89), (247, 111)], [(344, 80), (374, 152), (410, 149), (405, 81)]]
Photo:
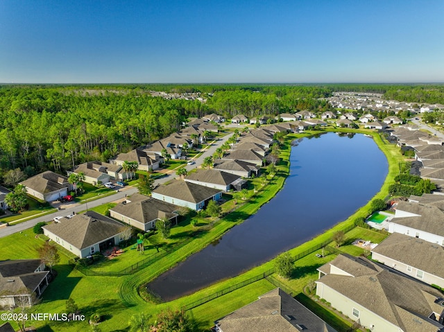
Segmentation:
[[(328, 264), (336, 266), (337, 259), (344, 259), (341, 256), (343, 255), (339, 255)], [(352, 301), (368, 308), (384, 320), (400, 326), (405, 332), (437, 331), (439, 329), (439, 327), (436, 328), (436, 324), (432, 320), (426, 317), (429, 317), (434, 311), (438, 312), (440, 306), (435, 303), (435, 299), (442, 297), (441, 292), (424, 283), (404, 277), (400, 273), (380, 268), (368, 259), (361, 259), (361, 262), (354, 261), (351, 256), (345, 258), (349, 259), (350, 268), (365, 262), (368, 267), (375, 267), (375, 272), (357, 277), (327, 274), (321, 277), (317, 283), (324, 283)], [(348, 270), (345, 271), (348, 272)], [(441, 311), (439, 312), (441, 313)], [(418, 324), (422, 330), (418, 330)]]

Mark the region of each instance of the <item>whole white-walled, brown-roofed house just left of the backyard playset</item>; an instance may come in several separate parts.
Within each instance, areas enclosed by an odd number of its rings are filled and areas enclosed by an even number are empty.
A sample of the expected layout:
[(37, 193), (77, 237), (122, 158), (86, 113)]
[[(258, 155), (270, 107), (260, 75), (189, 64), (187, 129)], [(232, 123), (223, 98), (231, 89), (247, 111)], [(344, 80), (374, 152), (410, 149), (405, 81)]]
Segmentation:
[(42, 227), (44, 235), (81, 259), (118, 245), (126, 226), (94, 211)]

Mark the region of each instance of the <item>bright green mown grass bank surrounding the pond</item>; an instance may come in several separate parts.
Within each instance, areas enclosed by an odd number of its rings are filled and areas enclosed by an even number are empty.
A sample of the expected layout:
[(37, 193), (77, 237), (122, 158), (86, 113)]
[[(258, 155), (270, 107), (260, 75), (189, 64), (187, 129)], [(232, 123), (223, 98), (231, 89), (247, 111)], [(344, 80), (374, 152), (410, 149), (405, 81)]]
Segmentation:
[[(333, 131), (333, 130), (332, 130)], [(350, 132), (351, 130), (345, 130)], [(361, 132), (361, 131), (357, 131)], [(315, 132), (318, 133), (318, 132)], [(366, 132), (371, 133), (371, 132)], [(303, 136), (308, 136), (309, 133), (304, 134)], [(287, 148), (282, 149), (282, 163), (279, 168), (279, 175), (287, 175), (289, 170), (289, 154), (290, 154), (290, 146), (289, 143), (292, 139), (301, 137), (302, 135), (289, 135), (287, 137), (286, 145)], [(388, 193), (388, 185), (394, 182), (395, 175), (398, 175), (398, 164), (400, 159), (400, 153), (395, 150), (394, 146), (385, 145), (382, 139), (378, 134), (373, 134), (375, 137), (375, 142), (378, 144), (379, 148), (384, 151), (386, 157), (389, 161), (389, 171), (388, 176), (386, 178), (386, 182), (384, 186), (382, 186), (381, 191), (375, 195), (375, 198), (385, 198)], [(255, 181), (259, 181), (256, 179)], [(103, 331), (115, 331), (115, 329), (123, 329), (128, 326), (128, 320), (134, 314), (138, 314), (141, 312), (148, 313), (152, 315), (154, 319), (154, 315), (166, 307), (171, 308), (179, 308), (181, 306), (185, 306), (194, 302), (202, 297), (207, 295), (211, 295), (214, 292), (218, 292), (224, 288), (228, 288), (236, 283), (241, 281), (245, 281), (250, 277), (254, 277), (257, 274), (263, 273), (270, 268), (273, 268), (273, 261), (265, 263), (263, 265), (258, 266), (257, 268), (253, 268), (252, 270), (239, 275), (238, 277), (234, 277), (232, 279), (228, 279), (225, 281), (221, 281), (219, 283), (214, 284), (208, 288), (203, 290), (199, 290), (198, 292), (189, 295), (187, 297), (182, 297), (173, 302), (169, 302), (167, 304), (150, 304), (144, 302), (142, 298), (137, 294), (137, 290), (139, 286), (146, 283), (146, 281), (153, 279), (161, 272), (171, 268), (173, 265), (178, 263), (178, 261), (182, 261), (190, 254), (202, 249), (208, 243), (213, 241), (215, 238), (220, 237), (225, 233), (230, 227), (236, 225), (237, 222), (241, 222), (246, 217), (250, 216), (250, 214), (255, 213), (259, 207), (267, 202), (269, 199), (273, 198), (275, 193), (280, 190), (282, 184), (284, 183), (284, 176), (275, 176), (271, 183), (268, 184), (264, 188), (263, 191), (259, 191), (250, 202), (244, 204), (244, 206), (240, 207), (237, 211), (230, 213), (228, 216), (223, 218), (220, 222), (216, 223), (212, 229), (207, 231), (207, 233), (203, 233), (198, 236), (194, 241), (188, 243), (184, 247), (180, 247), (180, 250), (176, 250), (165, 256), (163, 259), (156, 261), (149, 268), (145, 268), (144, 270), (137, 272), (135, 274), (123, 277), (83, 277), (77, 271), (70, 271), (69, 267), (64, 263), (60, 263), (57, 266), (59, 271), (59, 276), (56, 278), (53, 283), (49, 285), (47, 290), (44, 293), (44, 302), (35, 306), (36, 312), (48, 312), (48, 313), (60, 313), (65, 308), (65, 302), (68, 297), (73, 297), (82, 313), (85, 315), (91, 315), (94, 312), (99, 312), (103, 315), (106, 315), (105, 322), (100, 324), (100, 327)], [(321, 234), (320, 236), (312, 239), (311, 241), (300, 245), (299, 247), (293, 248), (291, 250), (291, 254), (296, 255), (300, 252), (304, 252), (310, 247), (318, 243), (322, 243), (325, 240), (329, 240), (332, 237), (334, 231), (338, 229), (345, 229), (350, 225), (357, 216), (366, 216), (368, 214), (369, 205), (367, 204), (362, 209), (359, 209), (353, 216), (350, 216), (344, 222), (339, 223), (333, 229), (325, 232), (325, 234)], [(182, 227), (182, 226), (180, 226)], [(187, 227), (187, 226), (184, 226)], [(180, 231), (180, 228), (177, 229)], [(183, 229), (182, 229), (183, 231)], [(186, 230), (185, 230), (186, 231)], [(369, 230), (363, 230), (357, 228), (353, 229), (352, 232), (347, 234), (347, 237), (350, 238), (350, 241), (354, 238), (364, 238), (366, 240), (371, 240), (374, 242), (379, 241), (379, 237), (382, 236), (379, 233)], [(373, 238), (373, 240), (372, 240)], [(37, 241), (38, 239), (34, 239), (33, 237), (27, 238), (28, 241)], [(15, 243), (15, 247), (17, 247), (17, 243)], [(19, 245), (18, 245), (19, 246)], [(345, 245), (341, 247), (341, 250), (346, 250), (351, 254), (358, 254), (359, 248), (355, 248), (349, 245)], [(2, 252), (1, 256), (6, 255), (6, 258), (28, 258), (30, 256), (31, 248), (28, 250), (22, 250), (20, 255), (10, 256), (5, 252)], [(362, 251), (362, 250), (361, 250)], [(28, 253), (28, 254), (26, 254)], [(124, 254), (123, 254), (124, 256)], [(122, 257), (123, 257), (122, 256)], [(330, 254), (327, 258), (322, 259), (327, 261), (328, 259), (333, 259), (334, 255)], [(322, 265), (324, 261), (321, 261), (314, 254), (310, 254), (306, 256), (304, 259), (296, 262), (296, 278), (291, 279), (289, 282), (279, 280), (280, 282), (284, 282), (287, 286), (289, 286), (295, 292), (301, 292), (302, 287), (309, 281), (309, 279), (316, 279), (316, 268)], [(63, 286), (61, 286), (63, 285)], [(240, 288), (239, 290), (235, 290), (230, 292), (227, 295), (223, 295), (223, 297), (219, 297), (217, 299), (212, 300), (211, 302), (207, 302), (201, 306), (198, 306), (192, 309), (191, 313), (194, 314), (194, 317), (200, 323), (202, 328), (208, 328), (211, 326), (212, 322), (234, 310), (237, 308), (244, 306), (250, 302), (253, 302), (257, 299), (257, 296), (262, 295), (264, 292), (275, 288), (275, 286), (264, 280), (257, 281), (252, 283), (244, 288)], [(60, 290), (63, 290), (60, 292)], [(88, 324), (86, 322), (69, 322), (69, 323), (55, 323), (55, 322), (47, 322), (51, 327), (48, 326), (48, 329), (44, 328), (42, 331), (80, 331), (82, 329), (88, 329)], [(33, 322), (35, 326), (44, 326), (46, 322)]]

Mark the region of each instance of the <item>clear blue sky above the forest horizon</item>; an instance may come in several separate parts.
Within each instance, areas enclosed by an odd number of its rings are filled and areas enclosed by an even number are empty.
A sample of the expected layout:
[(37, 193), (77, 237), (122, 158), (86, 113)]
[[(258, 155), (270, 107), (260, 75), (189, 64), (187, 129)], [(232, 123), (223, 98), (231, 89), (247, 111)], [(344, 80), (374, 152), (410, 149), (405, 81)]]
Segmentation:
[(444, 82), (444, 1), (0, 1), (0, 82)]

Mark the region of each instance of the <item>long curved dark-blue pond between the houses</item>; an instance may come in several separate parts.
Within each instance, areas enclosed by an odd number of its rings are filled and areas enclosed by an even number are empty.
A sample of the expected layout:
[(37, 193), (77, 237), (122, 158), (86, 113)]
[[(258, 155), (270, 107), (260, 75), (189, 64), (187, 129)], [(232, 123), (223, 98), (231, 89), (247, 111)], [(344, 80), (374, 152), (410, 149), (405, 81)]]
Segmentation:
[(388, 173), (384, 153), (363, 134), (302, 139), (291, 148), (290, 162), (290, 175), (270, 202), (148, 283), (148, 290), (170, 301), (269, 261), (348, 218)]

